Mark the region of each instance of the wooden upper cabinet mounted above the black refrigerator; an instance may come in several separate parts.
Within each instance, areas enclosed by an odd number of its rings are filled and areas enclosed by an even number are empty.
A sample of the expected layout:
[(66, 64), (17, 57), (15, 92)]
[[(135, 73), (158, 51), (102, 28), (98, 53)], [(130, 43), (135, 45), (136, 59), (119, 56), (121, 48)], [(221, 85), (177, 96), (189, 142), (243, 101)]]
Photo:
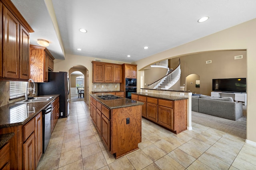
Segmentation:
[(53, 71), (53, 60), (46, 47), (30, 45), (30, 78), (34, 82), (48, 82), (48, 70)]

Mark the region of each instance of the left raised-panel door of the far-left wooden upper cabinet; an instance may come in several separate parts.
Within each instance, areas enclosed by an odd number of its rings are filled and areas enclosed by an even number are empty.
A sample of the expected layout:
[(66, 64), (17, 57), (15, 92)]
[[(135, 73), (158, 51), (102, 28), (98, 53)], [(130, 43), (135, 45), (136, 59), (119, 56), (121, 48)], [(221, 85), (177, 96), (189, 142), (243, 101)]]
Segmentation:
[(19, 78), (19, 34), (20, 24), (15, 16), (4, 9), (3, 25), (3, 77)]

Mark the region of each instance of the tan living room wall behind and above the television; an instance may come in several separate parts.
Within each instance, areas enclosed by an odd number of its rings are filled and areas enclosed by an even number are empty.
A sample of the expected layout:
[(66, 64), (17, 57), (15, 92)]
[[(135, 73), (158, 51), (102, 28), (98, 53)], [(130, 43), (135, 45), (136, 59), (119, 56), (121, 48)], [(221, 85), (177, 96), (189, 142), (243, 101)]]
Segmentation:
[[(243, 58), (235, 60), (234, 56), (238, 55), (243, 55)], [(186, 83), (188, 75), (198, 74), (200, 76), (200, 88), (192, 88), (190, 84), (186, 87), (186, 90), (199, 94), (211, 94), (212, 79), (214, 78), (246, 78), (246, 50), (210, 51), (176, 57), (170, 59), (171, 67), (178, 65), (178, 59), (180, 59), (181, 69), (180, 86), (188, 85)], [(209, 60), (212, 63), (206, 64), (206, 61)]]

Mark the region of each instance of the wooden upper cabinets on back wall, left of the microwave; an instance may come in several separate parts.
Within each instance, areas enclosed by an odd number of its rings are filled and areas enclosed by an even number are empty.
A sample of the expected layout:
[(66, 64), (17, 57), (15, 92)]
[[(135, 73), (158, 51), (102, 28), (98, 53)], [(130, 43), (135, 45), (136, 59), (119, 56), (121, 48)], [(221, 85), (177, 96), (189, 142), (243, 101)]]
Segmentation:
[(122, 65), (92, 61), (93, 83), (121, 83)]

